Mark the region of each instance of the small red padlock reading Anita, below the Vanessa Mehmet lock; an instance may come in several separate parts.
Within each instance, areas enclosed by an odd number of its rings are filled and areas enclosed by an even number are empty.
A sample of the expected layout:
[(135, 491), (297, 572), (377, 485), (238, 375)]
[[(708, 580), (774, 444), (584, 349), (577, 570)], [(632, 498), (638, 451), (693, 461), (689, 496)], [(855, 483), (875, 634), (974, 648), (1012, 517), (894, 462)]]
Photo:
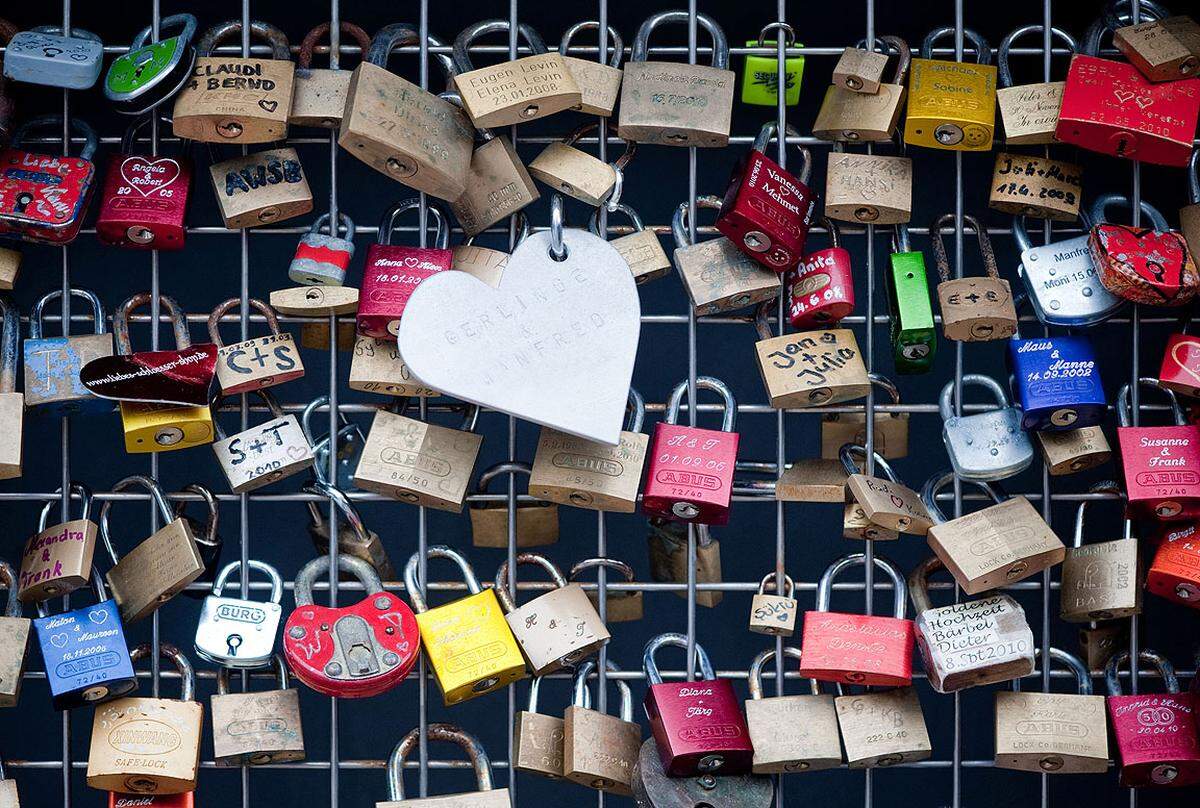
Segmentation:
[(787, 274), (787, 312), (799, 330), (830, 328), (854, 311), (850, 251), (839, 244), (836, 223), (828, 216), (821, 223), (829, 231), (832, 246), (810, 252)]

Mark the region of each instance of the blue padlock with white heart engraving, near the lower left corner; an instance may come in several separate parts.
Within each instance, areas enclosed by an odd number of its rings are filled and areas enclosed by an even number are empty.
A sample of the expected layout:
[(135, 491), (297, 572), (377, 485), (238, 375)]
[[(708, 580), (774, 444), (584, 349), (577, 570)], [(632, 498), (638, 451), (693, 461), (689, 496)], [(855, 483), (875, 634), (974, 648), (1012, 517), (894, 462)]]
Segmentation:
[(37, 604), (34, 629), (55, 710), (112, 701), (138, 686), (116, 601), (104, 597), (96, 568), (91, 580), (96, 588), (91, 606), (47, 615), (46, 604)]

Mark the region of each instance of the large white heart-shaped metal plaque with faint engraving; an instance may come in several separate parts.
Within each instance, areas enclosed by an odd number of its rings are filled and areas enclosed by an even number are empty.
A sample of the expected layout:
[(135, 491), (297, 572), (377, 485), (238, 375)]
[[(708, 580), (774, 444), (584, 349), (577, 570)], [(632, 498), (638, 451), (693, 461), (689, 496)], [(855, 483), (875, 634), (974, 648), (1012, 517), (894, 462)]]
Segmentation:
[(637, 355), (641, 303), (629, 265), (587, 231), (530, 235), (498, 288), (467, 273), (421, 281), (400, 321), (400, 354), (449, 396), (613, 444)]

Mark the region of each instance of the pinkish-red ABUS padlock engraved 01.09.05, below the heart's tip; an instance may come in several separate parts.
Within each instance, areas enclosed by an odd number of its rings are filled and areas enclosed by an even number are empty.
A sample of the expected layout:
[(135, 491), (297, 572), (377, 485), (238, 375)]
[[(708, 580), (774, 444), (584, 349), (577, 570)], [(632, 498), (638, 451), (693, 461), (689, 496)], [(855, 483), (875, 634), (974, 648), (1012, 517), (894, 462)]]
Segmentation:
[(725, 525), (730, 521), (733, 466), (738, 457), (738, 433), (733, 431), (738, 407), (733, 393), (718, 378), (701, 376), (696, 378), (696, 389), (713, 390), (725, 401), (721, 429), (677, 425), (688, 382), (676, 385), (667, 402), (666, 420), (654, 426), (642, 511), (677, 522)]

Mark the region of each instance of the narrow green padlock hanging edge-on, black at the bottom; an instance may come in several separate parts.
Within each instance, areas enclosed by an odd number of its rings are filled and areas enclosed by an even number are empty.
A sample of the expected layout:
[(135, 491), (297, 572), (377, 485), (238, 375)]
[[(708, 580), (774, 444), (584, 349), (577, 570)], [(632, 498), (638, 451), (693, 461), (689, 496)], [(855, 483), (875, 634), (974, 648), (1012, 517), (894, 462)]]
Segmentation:
[(937, 353), (925, 256), (910, 247), (906, 225), (896, 225), (892, 250), (887, 275), (892, 359), (898, 373), (924, 373), (934, 366)]

